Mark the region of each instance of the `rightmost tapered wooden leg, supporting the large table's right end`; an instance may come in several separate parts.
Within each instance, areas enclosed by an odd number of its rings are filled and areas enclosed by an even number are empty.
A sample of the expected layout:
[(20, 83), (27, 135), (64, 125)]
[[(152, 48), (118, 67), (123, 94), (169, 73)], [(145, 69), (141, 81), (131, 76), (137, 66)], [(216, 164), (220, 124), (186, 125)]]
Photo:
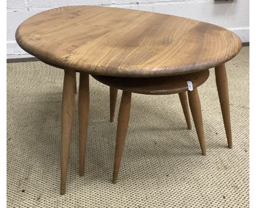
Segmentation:
[(220, 107), (222, 108), (222, 117), (224, 121), (226, 139), (228, 140), (228, 147), (231, 149), (232, 134), (230, 123), (230, 110), (229, 110), (229, 88), (228, 77), (226, 76), (225, 64), (219, 65), (215, 68), (216, 84), (219, 94)]

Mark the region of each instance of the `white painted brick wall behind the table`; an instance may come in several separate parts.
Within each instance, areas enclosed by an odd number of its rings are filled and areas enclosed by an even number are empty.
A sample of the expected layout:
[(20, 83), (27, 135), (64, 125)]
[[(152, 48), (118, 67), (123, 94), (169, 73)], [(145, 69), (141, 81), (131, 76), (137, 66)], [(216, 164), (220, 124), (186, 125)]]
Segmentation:
[(7, 58), (30, 57), (15, 41), (16, 28), (28, 17), (64, 5), (86, 4), (189, 17), (228, 28), (249, 42), (249, 0), (7, 0)]

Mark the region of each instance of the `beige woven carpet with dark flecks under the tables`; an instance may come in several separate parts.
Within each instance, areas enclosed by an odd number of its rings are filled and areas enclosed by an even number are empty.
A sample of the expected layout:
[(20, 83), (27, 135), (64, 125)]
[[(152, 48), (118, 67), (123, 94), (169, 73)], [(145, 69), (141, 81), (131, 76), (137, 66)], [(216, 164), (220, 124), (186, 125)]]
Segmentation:
[[(109, 88), (90, 77), (85, 175), (78, 175), (78, 95), (66, 194), (60, 195), (63, 70), (7, 65), (8, 207), (249, 207), (249, 47), (226, 63), (234, 148), (228, 149), (214, 70), (199, 87), (207, 156), (178, 95), (132, 95), (118, 183)], [(77, 82), (79, 78), (77, 75)], [(190, 114), (191, 116), (191, 114)]]

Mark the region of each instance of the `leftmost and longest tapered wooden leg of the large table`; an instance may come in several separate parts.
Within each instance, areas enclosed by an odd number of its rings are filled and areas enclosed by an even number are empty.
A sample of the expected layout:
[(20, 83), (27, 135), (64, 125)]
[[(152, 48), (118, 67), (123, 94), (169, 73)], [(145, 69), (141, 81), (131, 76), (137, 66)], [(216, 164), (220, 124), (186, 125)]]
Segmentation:
[(65, 194), (74, 114), (75, 71), (65, 70), (61, 107), (61, 195)]

